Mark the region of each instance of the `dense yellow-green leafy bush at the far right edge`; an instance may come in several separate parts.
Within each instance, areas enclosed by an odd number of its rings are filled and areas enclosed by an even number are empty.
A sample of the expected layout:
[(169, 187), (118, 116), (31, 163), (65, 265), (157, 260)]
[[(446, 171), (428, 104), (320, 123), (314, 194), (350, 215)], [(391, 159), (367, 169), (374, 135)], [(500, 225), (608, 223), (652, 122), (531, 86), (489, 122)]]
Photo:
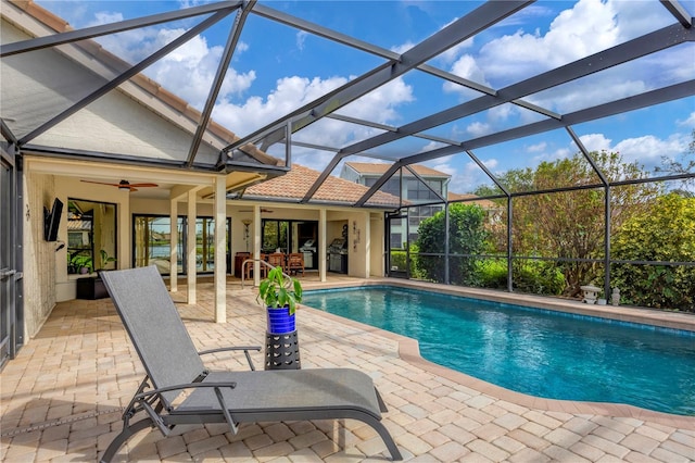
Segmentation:
[[(626, 221), (611, 251), (615, 260), (695, 262), (695, 198), (659, 198)], [(623, 302), (695, 312), (695, 266), (616, 264), (611, 284)]]

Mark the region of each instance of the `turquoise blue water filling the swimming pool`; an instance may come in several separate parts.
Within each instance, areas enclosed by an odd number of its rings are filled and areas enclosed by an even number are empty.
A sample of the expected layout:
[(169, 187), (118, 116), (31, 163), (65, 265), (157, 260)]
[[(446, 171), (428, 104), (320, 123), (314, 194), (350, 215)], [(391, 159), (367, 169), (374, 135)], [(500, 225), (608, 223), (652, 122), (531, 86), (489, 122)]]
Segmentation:
[(424, 358), (544, 397), (695, 415), (695, 334), (393, 287), (304, 304), (418, 340)]

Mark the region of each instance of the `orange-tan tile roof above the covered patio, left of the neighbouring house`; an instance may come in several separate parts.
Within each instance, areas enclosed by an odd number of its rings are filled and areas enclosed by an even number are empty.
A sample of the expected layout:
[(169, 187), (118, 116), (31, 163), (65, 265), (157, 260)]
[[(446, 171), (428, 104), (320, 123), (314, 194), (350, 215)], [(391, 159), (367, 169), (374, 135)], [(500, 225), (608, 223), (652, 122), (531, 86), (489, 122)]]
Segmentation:
[[(300, 200), (304, 198), (304, 195), (306, 195), (319, 175), (320, 173), (318, 171), (303, 165), (292, 164), (292, 170), (287, 174), (247, 188), (243, 197), (244, 199), (282, 198)], [(312, 199), (323, 202), (344, 202), (346, 205), (352, 205), (359, 200), (367, 190), (369, 190), (369, 188), (364, 185), (330, 175)], [(383, 205), (392, 209), (400, 205), (400, 199), (396, 196), (377, 191), (369, 199), (368, 203), (369, 205)]]

